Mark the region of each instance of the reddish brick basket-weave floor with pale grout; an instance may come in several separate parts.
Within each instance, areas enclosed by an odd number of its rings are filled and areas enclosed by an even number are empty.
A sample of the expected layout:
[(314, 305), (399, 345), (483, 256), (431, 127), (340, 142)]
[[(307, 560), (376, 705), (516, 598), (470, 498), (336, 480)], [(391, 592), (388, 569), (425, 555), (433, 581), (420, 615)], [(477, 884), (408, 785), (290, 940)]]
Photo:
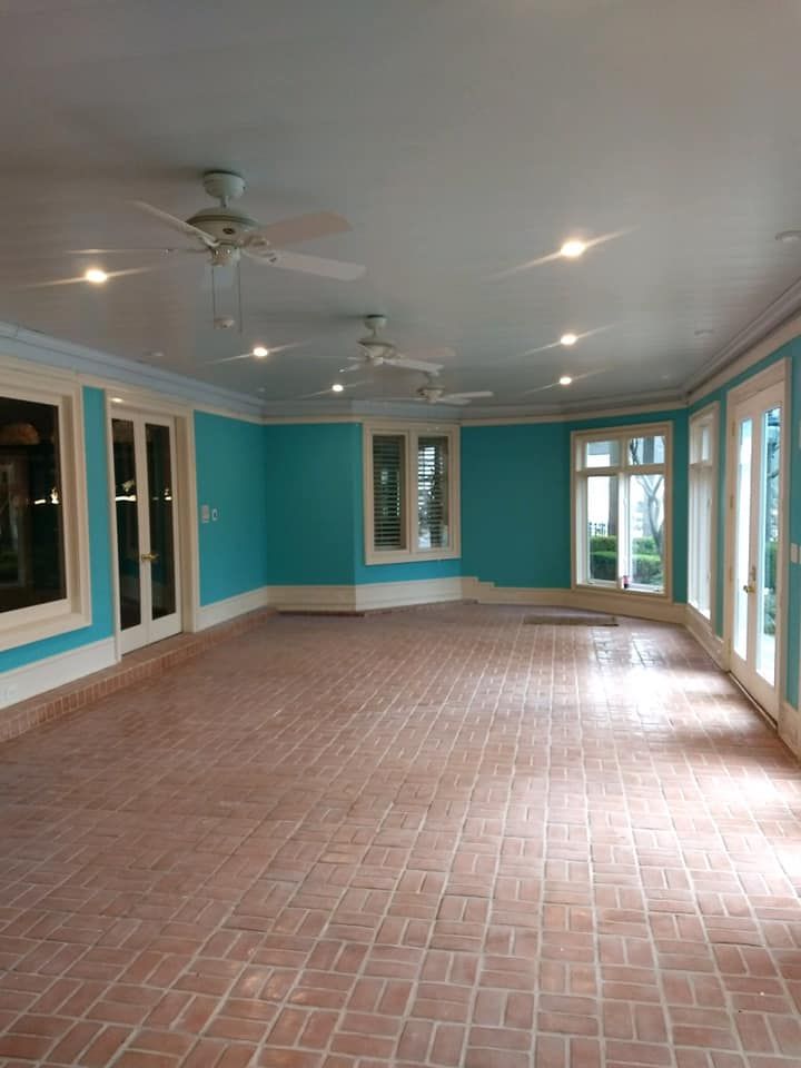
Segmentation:
[(0, 1062), (801, 1066), (801, 769), (683, 632), (284, 617), (0, 749)]

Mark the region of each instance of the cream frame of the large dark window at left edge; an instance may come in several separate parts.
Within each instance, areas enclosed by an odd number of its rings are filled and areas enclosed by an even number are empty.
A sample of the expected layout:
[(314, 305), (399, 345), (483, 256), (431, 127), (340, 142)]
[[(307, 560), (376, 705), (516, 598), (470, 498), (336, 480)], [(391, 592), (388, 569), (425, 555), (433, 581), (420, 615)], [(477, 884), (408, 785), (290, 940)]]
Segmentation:
[(22, 369), (0, 358), (0, 394), (58, 408), (59, 468), (63, 528), (65, 585), (59, 601), (0, 612), (0, 650), (17, 649), (90, 626), (89, 520), (87, 508), (83, 403), (80, 383), (37, 366)]

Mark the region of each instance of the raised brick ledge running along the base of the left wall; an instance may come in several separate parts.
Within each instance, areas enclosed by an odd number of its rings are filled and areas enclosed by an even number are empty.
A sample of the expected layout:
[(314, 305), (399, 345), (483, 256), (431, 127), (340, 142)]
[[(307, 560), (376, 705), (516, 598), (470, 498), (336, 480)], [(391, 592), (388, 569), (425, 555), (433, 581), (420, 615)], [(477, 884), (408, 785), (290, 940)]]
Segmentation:
[(77, 712), (100, 698), (125, 690), (145, 679), (160, 675), (212, 645), (259, 626), (271, 615), (275, 615), (274, 609), (258, 609), (195, 634), (168, 637), (164, 642), (130, 653), (102, 671), (85, 674), (55, 690), (0, 709), (0, 742), (19, 738), (34, 726), (69, 712)]

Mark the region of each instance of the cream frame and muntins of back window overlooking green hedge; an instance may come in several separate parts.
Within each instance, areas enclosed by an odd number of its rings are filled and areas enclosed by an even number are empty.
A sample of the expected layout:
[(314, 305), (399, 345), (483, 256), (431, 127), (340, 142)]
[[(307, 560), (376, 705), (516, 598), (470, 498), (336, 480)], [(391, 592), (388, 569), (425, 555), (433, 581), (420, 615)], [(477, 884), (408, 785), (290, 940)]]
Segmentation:
[[(627, 442), (634, 437), (664, 437), (665, 458), (660, 464), (632, 464)], [(621, 461), (611, 467), (586, 467), (585, 446), (590, 442), (620, 442)], [(599, 426), (592, 431), (573, 431), (571, 434), (571, 571), (574, 590), (592, 590), (594, 593), (621, 593), (627, 597), (643, 597), (649, 602), (671, 602), (673, 596), (673, 426), (671, 423), (640, 423), (631, 426)], [(621, 482), (631, 474), (664, 474), (664, 545), (663, 589), (630, 585), (622, 590), (619, 581), (591, 580), (587, 577), (586, 546), (586, 479), (590, 475), (617, 475)], [(627, 530), (626, 494), (619, 495), (619, 531)], [(619, 535), (620, 538), (620, 535)], [(619, 540), (619, 546), (621, 541)], [(621, 556), (619, 555), (619, 571)]]

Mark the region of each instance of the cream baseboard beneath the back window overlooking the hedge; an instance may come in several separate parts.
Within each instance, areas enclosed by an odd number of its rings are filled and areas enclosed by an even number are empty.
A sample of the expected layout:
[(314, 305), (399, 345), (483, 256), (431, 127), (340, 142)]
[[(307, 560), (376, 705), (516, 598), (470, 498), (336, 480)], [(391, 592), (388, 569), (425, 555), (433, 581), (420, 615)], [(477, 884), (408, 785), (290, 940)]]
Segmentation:
[(478, 578), (462, 580), (463, 596), (479, 604), (531, 604), (556, 609), (585, 609), (609, 612), (657, 623), (684, 623), (684, 605), (673, 604), (647, 594), (616, 593), (613, 591), (535, 589), (525, 586), (496, 586)]

